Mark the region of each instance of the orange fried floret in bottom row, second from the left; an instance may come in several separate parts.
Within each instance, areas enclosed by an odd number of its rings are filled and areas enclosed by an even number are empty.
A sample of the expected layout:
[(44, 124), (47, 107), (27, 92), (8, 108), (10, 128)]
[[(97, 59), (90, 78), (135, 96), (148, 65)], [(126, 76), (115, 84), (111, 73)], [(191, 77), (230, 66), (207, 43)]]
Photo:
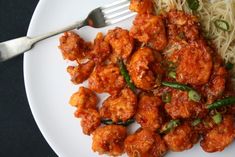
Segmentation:
[(162, 157), (167, 146), (153, 131), (142, 129), (125, 139), (125, 151), (129, 157)]

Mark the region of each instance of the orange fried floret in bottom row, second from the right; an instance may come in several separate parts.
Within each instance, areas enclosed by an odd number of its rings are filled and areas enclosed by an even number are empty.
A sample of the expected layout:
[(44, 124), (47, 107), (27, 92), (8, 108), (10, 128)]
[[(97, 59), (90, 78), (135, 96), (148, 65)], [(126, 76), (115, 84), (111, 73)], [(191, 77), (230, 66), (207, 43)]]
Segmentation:
[(180, 152), (193, 147), (199, 136), (188, 123), (183, 123), (166, 134), (163, 139), (171, 151)]

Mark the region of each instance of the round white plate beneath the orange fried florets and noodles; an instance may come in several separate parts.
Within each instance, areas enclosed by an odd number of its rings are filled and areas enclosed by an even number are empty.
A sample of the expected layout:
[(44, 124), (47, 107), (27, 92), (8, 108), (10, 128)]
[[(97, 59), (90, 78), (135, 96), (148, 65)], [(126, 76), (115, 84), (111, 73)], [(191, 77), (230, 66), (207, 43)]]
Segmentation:
[[(30, 23), (28, 36), (55, 30), (83, 19), (87, 13), (114, 0), (40, 0)], [(115, 26), (129, 28), (131, 20)], [(97, 32), (108, 29), (84, 27), (78, 33), (92, 40)], [(80, 121), (73, 116), (74, 108), (68, 105), (78, 86), (70, 82), (66, 72), (68, 63), (62, 59), (57, 46), (59, 36), (38, 43), (24, 56), (24, 78), (28, 101), (43, 136), (61, 157), (98, 157), (91, 150), (91, 137), (82, 134)], [(167, 157), (233, 157), (235, 144), (222, 153), (204, 153), (197, 145), (182, 153), (169, 153)], [(126, 156), (126, 155), (123, 155)]]

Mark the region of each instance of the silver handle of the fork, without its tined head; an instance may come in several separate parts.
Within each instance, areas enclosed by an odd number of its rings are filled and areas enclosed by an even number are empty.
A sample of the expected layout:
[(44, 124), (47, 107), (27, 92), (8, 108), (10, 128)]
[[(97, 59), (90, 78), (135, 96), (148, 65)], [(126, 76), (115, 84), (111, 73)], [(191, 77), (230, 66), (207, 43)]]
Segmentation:
[(8, 40), (5, 42), (0, 43), (0, 62), (6, 61), (8, 59), (11, 59), (15, 56), (18, 56), (28, 50), (30, 50), (34, 44), (37, 42), (50, 38), (52, 36), (58, 35), (60, 33), (70, 31), (73, 29), (79, 29), (83, 26), (85, 26), (85, 21), (78, 21), (75, 22), (72, 25), (69, 25), (67, 27), (58, 29), (56, 31), (48, 32), (46, 34), (42, 34), (36, 37), (20, 37), (12, 40)]

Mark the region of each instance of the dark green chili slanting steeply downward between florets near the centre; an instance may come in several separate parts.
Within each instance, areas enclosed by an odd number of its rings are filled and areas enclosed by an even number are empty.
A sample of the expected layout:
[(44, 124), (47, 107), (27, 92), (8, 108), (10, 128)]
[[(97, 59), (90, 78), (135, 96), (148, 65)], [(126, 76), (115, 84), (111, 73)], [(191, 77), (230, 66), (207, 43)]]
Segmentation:
[(135, 91), (136, 90), (136, 87), (135, 85), (131, 82), (131, 77), (126, 69), (126, 66), (125, 64), (123, 63), (123, 60), (119, 59), (118, 61), (118, 65), (119, 65), (119, 69), (120, 69), (120, 72), (122, 74), (122, 76), (124, 77), (127, 85), (130, 87), (130, 89), (132, 91)]

